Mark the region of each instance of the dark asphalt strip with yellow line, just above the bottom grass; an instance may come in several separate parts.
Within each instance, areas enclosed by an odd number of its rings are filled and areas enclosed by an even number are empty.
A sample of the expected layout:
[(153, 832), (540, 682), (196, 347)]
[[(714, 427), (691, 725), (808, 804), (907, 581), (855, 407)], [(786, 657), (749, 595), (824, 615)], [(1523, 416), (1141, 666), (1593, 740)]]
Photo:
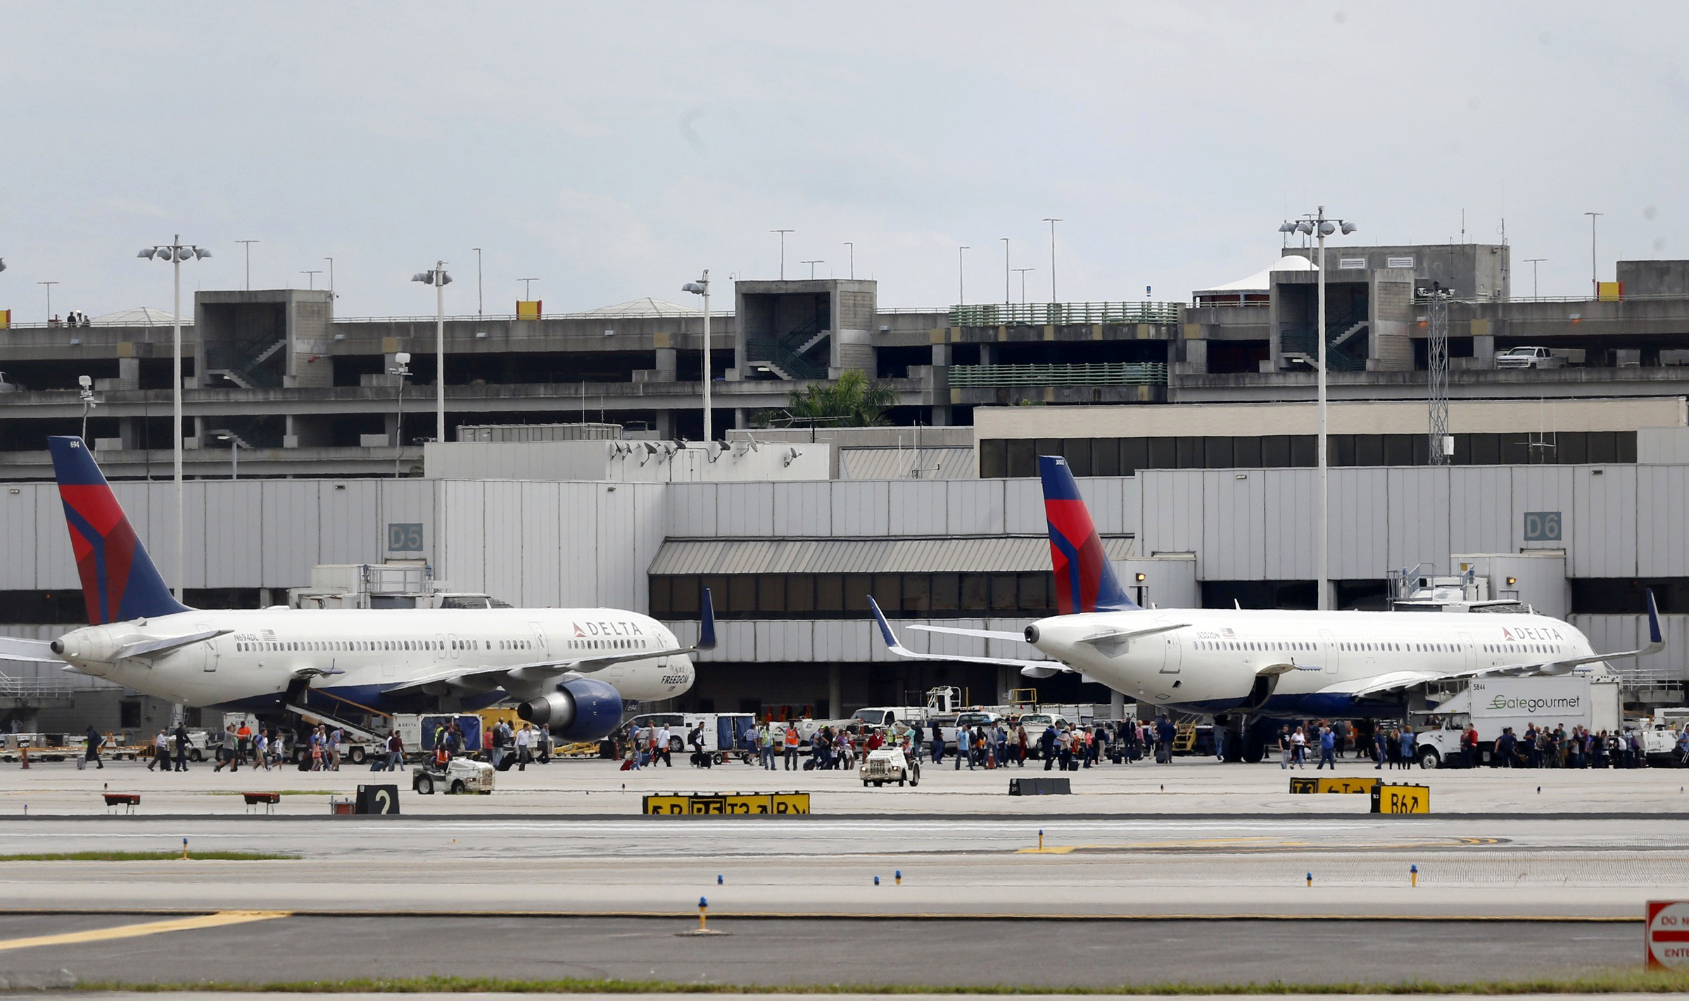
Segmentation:
[[(86, 922), (0, 918), (19, 933)], [(100, 925), (105, 925), (101, 922)], [(1162, 982), (1464, 982), (1635, 964), (1615, 923), (912, 922), (677, 918), (277, 918), (29, 949), (29, 969), (81, 981), (301, 982), (348, 977), (605, 977), (682, 984), (1108, 987)], [(0, 969), (22, 964), (0, 952)]]

